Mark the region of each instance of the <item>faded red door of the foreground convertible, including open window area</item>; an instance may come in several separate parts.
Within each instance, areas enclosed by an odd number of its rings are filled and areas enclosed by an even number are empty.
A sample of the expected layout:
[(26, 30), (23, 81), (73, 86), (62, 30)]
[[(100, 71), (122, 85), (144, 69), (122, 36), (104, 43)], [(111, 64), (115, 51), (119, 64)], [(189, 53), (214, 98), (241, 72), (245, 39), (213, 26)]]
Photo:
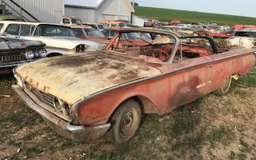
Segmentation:
[[(212, 69), (214, 65), (206, 63), (207, 55), (199, 55), (198, 53), (200, 52), (203, 53), (203, 50), (197, 45), (181, 44), (180, 49), (176, 53), (177, 55), (175, 56), (178, 56), (180, 59), (175, 61), (174, 57), (171, 70), (174, 70), (176, 67), (179, 71), (178, 74), (174, 74), (170, 78), (170, 90), (174, 90), (171, 106), (180, 106), (187, 102), (192, 102), (195, 98), (208, 94), (211, 91)], [(209, 49), (209, 54), (211, 52), (212, 50)]]

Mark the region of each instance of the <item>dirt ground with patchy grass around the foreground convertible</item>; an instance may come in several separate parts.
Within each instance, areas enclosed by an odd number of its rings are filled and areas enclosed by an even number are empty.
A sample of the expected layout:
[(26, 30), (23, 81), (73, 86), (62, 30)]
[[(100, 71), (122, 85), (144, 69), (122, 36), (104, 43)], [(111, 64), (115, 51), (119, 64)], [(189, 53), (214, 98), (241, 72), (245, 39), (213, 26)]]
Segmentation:
[(208, 94), (169, 114), (143, 117), (138, 134), (72, 143), (42, 121), (0, 78), (0, 159), (256, 159), (256, 67), (224, 96)]

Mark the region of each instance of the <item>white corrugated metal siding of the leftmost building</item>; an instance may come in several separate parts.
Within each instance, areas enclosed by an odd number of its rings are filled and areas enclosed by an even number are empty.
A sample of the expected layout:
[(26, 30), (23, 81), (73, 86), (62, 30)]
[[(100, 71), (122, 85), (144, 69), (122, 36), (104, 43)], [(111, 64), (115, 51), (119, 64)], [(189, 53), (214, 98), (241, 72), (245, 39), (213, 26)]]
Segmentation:
[[(30, 14), (34, 15), (41, 22), (55, 22), (59, 23), (61, 21), (62, 15), (64, 15), (64, 0), (15, 0), (20, 6), (27, 10)], [(6, 0), (14, 10), (20, 13), (20, 9), (15, 6), (12, 2)], [(14, 15), (18, 15), (7, 7), (10, 12)], [(30, 21), (34, 21), (29, 15), (22, 12), (26, 18)]]

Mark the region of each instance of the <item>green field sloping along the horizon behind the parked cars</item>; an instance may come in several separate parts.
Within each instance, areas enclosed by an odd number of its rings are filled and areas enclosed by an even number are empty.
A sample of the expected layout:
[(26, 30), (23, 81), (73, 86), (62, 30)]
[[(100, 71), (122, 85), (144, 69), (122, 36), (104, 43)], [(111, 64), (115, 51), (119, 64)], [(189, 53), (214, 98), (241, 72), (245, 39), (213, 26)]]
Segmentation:
[(208, 14), (186, 10), (169, 10), (145, 6), (135, 7), (135, 14), (140, 17), (155, 18), (169, 22), (170, 19), (180, 19), (182, 22), (217, 22), (218, 24), (248, 24), (256, 25), (256, 18), (233, 16), (225, 14)]

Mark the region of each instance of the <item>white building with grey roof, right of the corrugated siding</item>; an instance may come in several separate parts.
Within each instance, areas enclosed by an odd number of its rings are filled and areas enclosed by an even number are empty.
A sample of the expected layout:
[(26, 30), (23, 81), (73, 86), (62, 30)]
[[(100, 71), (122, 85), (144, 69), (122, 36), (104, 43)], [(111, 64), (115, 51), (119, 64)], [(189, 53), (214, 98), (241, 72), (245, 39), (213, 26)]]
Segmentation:
[(83, 22), (98, 20), (131, 20), (134, 12), (129, 0), (65, 0), (65, 14)]

